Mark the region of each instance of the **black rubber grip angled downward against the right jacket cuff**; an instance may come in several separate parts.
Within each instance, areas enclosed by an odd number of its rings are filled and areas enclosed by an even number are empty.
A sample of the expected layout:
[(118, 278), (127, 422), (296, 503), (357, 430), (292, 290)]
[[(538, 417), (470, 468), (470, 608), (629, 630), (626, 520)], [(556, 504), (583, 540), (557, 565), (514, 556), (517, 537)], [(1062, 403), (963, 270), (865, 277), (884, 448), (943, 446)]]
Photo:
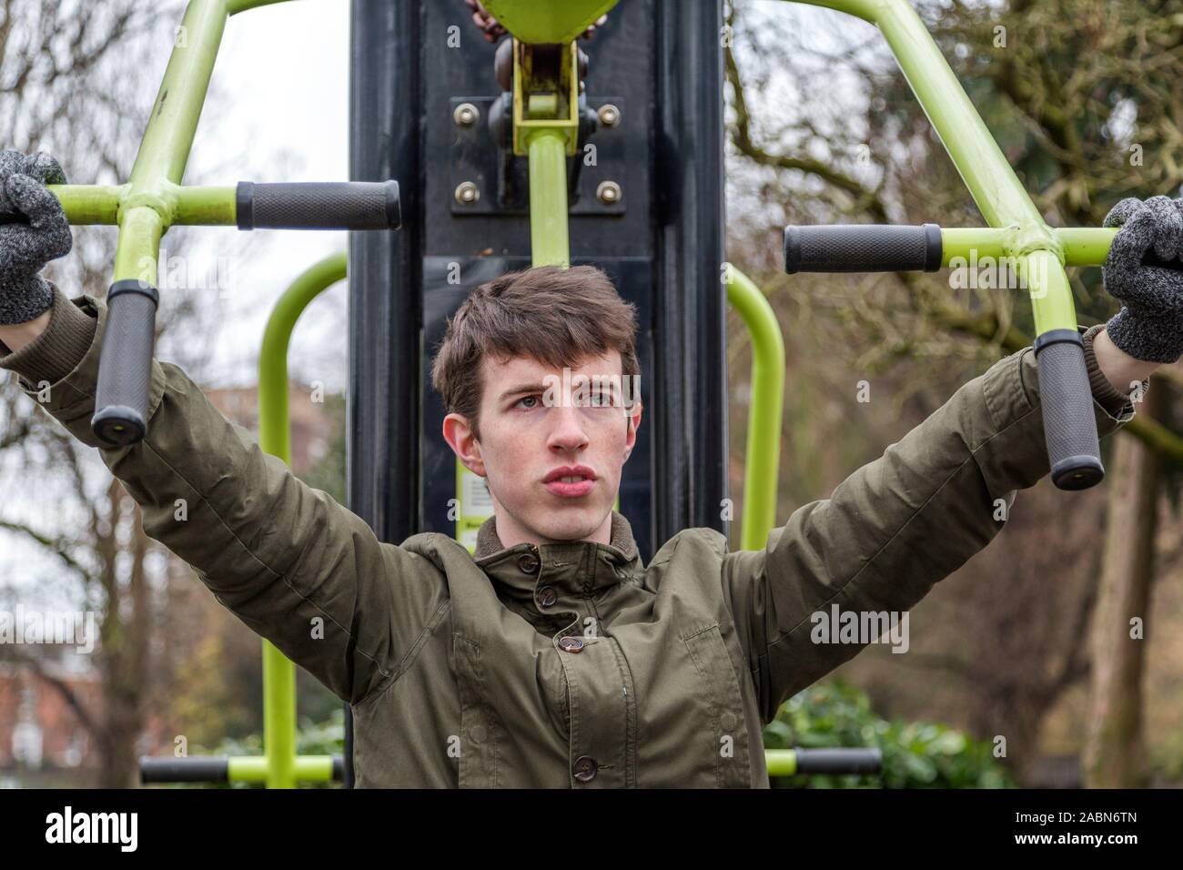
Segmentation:
[(1052, 482), (1060, 489), (1087, 489), (1105, 477), (1085, 348), (1071, 329), (1053, 329), (1035, 341), (1043, 434)]

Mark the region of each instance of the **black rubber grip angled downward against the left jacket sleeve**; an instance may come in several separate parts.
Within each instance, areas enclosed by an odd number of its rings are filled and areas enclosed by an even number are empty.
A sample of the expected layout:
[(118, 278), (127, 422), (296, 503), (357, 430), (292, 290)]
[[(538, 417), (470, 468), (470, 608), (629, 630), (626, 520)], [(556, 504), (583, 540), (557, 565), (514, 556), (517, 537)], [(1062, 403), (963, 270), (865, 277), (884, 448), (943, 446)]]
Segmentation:
[(108, 446), (135, 444), (148, 432), (159, 302), (156, 288), (135, 278), (115, 282), (106, 295), (106, 328), (90, 427)]

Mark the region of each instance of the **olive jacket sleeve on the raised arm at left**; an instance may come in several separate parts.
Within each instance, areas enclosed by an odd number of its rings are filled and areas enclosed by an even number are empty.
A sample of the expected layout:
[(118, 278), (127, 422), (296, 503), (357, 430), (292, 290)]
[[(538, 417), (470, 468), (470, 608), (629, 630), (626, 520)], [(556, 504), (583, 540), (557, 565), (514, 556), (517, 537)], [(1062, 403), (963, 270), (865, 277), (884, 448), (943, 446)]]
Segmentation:
[[(144, 531), (193, 566), (252, 631), (345, 701), (382, 685), (438, 604), (434, 567), (380, 542), (361, 517), (304, 484), (172, 363), (151, 363), (148, 436), (102, 446), (90, 419), (106, 304), (54, 294), (54, 307), (77, 308), (56, 310), (50, 329), (0, 357), (0, 367), (18, 372), (26, 395), (99, 450), (142, 508)], [(77, 346), (85, 335), (90, 324), (78, 315), (96, 321), (80, 361), (59, 380), (39, 378), (63, 368), (45, 342), (69, 344), (72, 333)]]

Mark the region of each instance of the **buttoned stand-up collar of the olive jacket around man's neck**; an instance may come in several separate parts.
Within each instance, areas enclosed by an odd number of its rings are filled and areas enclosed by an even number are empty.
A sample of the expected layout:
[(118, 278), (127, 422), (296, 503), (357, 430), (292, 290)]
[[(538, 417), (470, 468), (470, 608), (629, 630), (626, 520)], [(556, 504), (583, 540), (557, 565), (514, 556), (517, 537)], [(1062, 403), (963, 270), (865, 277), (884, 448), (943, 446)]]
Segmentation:
[(612, 511), (612, 543), (562, 541), (505, 547), (497, 536), (497, 517), (477, 530), (476, 563), (493, 580), (509, 586), (515, 598), (532, 598), (535, 589), (554, 586), (561, 593), (584, 594), (615, 586), (641, 567), (633, 527)]

